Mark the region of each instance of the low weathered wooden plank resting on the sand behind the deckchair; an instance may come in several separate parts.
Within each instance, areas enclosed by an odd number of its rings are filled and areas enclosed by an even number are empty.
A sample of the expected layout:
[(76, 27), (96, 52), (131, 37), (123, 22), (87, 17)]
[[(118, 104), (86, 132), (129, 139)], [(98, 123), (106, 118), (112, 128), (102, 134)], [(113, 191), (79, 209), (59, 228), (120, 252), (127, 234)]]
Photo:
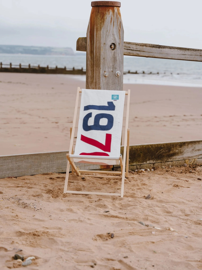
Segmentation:
[[(123, 152), (123, 147), (121, 147)], [(68, 151), (43, 152), (0, 156), (0, 178), (35, 175), (48, 172), (66, 172)], [(188, 160), (202, 162), (202, 141), (170, 142), (147, 145), (131, 145), (130, 168), (144, 168), (154, 164), (184, 164)], [(82, 170), (110, 169), (112, 166), (76, 163)], [(114, 165), (118, 167), (118, 165)], [(116, 169), (116, 168), (115, 168)], [(70, 168), (71, 171), (71, 168)]]

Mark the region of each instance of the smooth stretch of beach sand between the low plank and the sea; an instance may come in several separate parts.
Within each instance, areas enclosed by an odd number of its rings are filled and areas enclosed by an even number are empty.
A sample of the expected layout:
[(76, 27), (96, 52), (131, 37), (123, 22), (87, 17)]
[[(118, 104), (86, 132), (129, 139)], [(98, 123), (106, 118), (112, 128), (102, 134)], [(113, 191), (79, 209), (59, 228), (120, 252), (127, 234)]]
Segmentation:
[[(0, 73), (0, 155), (68, 150), (78, 86), (71, 75)], [(127, 89), (130, 145), (202, 138), (202, 88)]]

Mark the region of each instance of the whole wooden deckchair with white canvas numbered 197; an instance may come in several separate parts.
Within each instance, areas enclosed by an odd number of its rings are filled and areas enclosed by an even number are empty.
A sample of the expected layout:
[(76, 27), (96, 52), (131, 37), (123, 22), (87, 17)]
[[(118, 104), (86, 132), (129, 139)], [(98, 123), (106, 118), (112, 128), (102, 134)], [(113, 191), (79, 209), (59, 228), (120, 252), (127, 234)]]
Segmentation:
[[(81, 93), (80, 115), (78, 121), (78, 132), (75, 150), (73, 152), (73, 139), (77, 120), (77, 109), (79, 104), (79, 94)], [(127, 96), (127, 108), (125, 119), (125, 137), (123, 157), (120, 154), (124, 100)], [(73, 125), (70, 127), (70, 146), (69, 153), (66, 155), (67, 171), (65, 177), (64, 193), (72, 194), (97, 194), (97, 195), (116, 195), (123, 197), (124, 180), (128, 177), (129, 169), (129, 100), (130, 90), (93, 90), (77, 89), (76, 105), (74, 110)], [(126, 152), (127, 149), (127, 152)], [(119, 165), (120, 171), (97, 171), (80, 170), (77, 164), (89, 163), (99, 165)], [(99, 177), (107, 175), (111, 178), (120, 178), (121, 193), (105, 193), (93, 191), (71, 191), (67, 190), (69, 169), (72, 168), (77, 176)], [(126, 172), (125, 172), (126, 165)], [(91, 175), (85, 175), (90, 173)]]

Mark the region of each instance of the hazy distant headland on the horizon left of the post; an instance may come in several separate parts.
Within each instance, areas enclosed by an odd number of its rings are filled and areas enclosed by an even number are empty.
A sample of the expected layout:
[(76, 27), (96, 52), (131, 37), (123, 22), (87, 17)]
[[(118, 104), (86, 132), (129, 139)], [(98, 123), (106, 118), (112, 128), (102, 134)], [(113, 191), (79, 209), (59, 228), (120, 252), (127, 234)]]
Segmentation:
[(0, 53), (32, 55), (75, 55), (72, 48), (0, 45)]

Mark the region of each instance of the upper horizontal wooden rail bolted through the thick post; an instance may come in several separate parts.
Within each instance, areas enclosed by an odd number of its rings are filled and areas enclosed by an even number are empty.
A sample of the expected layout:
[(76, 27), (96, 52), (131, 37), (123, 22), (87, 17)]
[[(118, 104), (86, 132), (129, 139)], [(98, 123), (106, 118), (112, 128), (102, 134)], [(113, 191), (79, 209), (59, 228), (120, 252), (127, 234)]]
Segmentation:
[[(86, 51), (86, 37), (77, 40), (77, 51)], [(124, 55), (202, 61), (202, 50), (124, 41)]]

